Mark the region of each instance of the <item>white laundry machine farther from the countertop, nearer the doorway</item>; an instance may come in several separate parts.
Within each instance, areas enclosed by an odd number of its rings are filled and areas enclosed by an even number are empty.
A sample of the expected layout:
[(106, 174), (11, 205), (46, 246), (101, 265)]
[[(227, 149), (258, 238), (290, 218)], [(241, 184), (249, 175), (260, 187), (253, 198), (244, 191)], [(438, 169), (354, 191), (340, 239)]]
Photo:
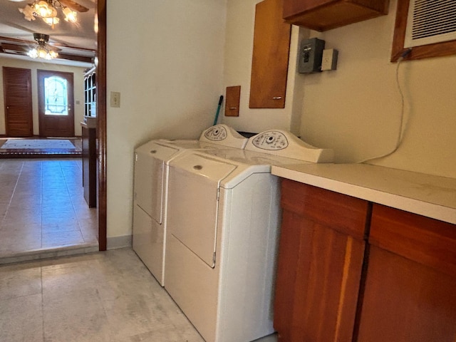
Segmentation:
[(151, 140), (135, 150), (133, 250), (164, 285), (168, 164), (185, 150), (242, 149), (247, 138), (226, 125), (204, 130), (199, 140)]

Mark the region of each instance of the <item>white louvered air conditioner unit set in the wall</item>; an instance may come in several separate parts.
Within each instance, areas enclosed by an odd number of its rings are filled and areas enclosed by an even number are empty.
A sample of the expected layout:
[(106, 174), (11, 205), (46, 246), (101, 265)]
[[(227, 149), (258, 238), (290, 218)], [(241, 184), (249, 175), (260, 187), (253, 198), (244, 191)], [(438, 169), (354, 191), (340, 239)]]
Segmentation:
[(404, 48), (455, 39), (455, 0), (410, 0)]

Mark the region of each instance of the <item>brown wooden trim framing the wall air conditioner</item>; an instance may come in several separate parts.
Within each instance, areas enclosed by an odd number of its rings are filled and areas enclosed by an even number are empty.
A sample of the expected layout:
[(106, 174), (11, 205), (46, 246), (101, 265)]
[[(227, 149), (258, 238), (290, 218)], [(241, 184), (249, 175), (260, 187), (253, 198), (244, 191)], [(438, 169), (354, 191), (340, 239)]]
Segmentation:
[[(393, 48), (391, 50), (391, 61), (397, 62), (408, 48), (404, 48), (405, 28), (407, 28), (407, 15), (410, 0), (398, 1), (398, 9), (396, 12), (396, 23), (394, 28)], [(405, 60), (422, 59), (430, 57), (449, 56), (456, 54), (456, 40), (445, 41), (442, 43), (428, 44), (423, 46), (415, 46), (411, 52), (405, 57)]]

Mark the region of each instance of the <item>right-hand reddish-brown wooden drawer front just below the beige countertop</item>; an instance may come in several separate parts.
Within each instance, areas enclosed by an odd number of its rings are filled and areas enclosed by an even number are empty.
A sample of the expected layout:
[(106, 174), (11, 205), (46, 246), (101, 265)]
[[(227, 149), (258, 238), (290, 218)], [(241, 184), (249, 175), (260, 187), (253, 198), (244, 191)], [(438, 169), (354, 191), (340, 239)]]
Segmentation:
[(369, 242), (456, 276), (456, 225), (373, 205)]

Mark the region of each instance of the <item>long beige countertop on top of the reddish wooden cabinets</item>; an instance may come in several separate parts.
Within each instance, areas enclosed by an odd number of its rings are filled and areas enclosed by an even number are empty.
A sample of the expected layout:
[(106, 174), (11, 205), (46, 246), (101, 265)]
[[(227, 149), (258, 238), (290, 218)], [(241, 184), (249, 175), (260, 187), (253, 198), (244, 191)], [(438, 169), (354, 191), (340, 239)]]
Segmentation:
[(367, 164), (272, 166), (273, 175), (456, 224), (456, 179)]

